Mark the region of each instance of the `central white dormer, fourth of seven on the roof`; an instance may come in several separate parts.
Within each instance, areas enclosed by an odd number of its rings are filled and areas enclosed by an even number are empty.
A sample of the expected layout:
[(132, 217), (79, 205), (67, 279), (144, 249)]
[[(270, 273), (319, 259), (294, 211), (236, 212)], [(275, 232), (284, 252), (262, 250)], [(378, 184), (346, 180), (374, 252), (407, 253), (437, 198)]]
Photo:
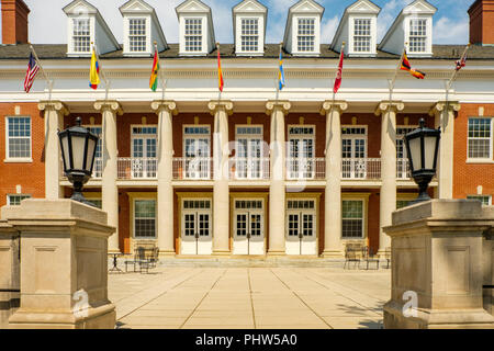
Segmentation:
[(256, 0), (244, 0), (233, 9), (235, 53), (260, 56), (265, 53), (268, 8)]

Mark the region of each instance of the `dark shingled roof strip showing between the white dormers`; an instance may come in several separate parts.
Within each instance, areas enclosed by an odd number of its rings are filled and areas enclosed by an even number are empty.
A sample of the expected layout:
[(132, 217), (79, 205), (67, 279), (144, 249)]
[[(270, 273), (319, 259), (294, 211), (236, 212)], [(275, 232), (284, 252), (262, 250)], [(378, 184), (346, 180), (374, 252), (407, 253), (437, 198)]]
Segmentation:
[[(67, 59), (67, 45), (66, 44), (35, 44), (33, 45), (36, 50), (40, 59)], [(263, 58), (278, 58), (279, 56), (279, 44), (267, 44), (265, 46), (265, 55)], [(434, 45), (433, 57), (428, 57), (426, 59), (459, 59), (461, 54), (464, 50), (464, 45)], [(235, 45), (234, 44), (223, 44), (221, 45), (222, 58), (238, 58), (235, 55)], [(30, 56), (30, 46), (27, 44), (18, 44), (18, 45), (0, 45), (0, 59), (27, 59)], [(216, 58), (217, 52), (216, 49), (209, 54), (206, 57)], [(122, 50), (116, 50), (112, 53), (108, 53), (104, 55), (100, 55), (101, 58), (104, 59), (120, 59), (125, 58), (122, 54)], [(183, 56), (179, 56), (179, 45), (170, 44), (167, 50), (164, 50), (159, 54), (159, 57), (167, 59), (181, 59)], [(283, 52), (284, 58), (290, 58), (292, 55)], [(339, 53), (336, 53), (329, 48), (329, 44), (321, 45), (321, 55), (318, 58), (323, 59), (335, 59), (339, 57)], [(472, 45), (470, 47), (469, 59), (483, 59), (483, 60), (494, 60), (494, 46), (480, 46)], [(204, 58), (204, 56), (199, 57)], [(314, 58), (314, 57), (308, 57)], [(363, 57), (366, 58), (366, 57)], [(394, 59), (400, 58), (400, 55), (390, 54), (386, 52), (378, 50), (378, 59)], [(75, 58), (77, 59), (77, 57)], [(85, 58), (87, 59), (87, 57)], [(147, 59), (147, 58), (144, 58)], [(351, 59), (359, 59), (358, 57), (353, 57)], [(414, 58), (420, 59), (420, 58)]]

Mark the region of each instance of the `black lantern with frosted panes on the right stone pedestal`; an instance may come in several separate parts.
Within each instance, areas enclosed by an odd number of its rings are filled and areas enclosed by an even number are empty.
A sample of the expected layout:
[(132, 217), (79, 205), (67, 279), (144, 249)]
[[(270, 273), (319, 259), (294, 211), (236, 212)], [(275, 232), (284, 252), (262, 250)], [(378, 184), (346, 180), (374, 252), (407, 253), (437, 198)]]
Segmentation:
[(412, 204), (430, 200), (427, 188), (436, 174), (437, 155), (441, 138), (440, 128), (427, 128), (424, 118), (420, 118), (419, 123), (420, 126), (417, 129), (405, 135), (412, 178), (417, 183), (419, 191), (418, 197)]

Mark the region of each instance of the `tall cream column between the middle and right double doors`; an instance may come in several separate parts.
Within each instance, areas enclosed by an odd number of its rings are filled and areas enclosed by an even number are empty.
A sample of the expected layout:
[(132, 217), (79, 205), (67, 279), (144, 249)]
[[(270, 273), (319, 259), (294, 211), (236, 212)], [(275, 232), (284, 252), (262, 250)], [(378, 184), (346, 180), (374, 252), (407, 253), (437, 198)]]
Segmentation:
[(271, 115), (269, 186), (269, 249), (268, 254), (285, 254), (285, 128), (284, 116), (291, 107), (288, 101), (268, 101), (266, 113)]

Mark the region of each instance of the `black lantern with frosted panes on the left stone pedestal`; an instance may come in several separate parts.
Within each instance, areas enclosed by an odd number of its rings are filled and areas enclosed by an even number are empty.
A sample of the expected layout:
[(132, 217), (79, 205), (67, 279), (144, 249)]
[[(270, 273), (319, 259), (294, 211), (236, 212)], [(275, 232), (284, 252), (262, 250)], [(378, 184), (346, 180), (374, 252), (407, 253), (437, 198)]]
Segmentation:
[(64, 172), (74, 185), (70, 199), (92, 206), (82, 195), (82, 186), (91, 178), (99, 137), (89, 128), (80, 126), (80, 117), (77, 117), (76, 123), (77, 125), (58, 132)]

